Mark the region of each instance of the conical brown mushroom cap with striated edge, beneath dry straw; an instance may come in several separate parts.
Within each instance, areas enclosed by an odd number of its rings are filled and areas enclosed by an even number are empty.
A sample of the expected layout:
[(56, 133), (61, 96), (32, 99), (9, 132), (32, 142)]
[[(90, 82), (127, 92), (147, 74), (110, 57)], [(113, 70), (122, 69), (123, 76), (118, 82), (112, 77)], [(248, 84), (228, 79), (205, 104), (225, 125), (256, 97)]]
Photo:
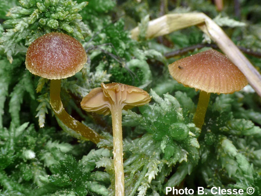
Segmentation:
[(245, 75), (225, 55), (210, 49), (168, 66), (177, 82), (207, 93), (233, 93), (248, 84)]

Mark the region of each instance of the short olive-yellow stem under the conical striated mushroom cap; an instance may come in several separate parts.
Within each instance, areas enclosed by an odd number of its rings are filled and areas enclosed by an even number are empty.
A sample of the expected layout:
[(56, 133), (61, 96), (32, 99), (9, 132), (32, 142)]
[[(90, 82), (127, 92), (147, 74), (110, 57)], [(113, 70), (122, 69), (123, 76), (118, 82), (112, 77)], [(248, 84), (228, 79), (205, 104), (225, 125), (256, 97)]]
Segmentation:
[(199, 100), (197, 103), (197, 110), (194, 116), (194, 123), (196, 127), (202, 128), (202, 125), (204, 124), (204, 119), (206, 115), (206, 109), (209, 105), (209, 98), (210, 93), (207, 93), (205, 91), (200, 91)]

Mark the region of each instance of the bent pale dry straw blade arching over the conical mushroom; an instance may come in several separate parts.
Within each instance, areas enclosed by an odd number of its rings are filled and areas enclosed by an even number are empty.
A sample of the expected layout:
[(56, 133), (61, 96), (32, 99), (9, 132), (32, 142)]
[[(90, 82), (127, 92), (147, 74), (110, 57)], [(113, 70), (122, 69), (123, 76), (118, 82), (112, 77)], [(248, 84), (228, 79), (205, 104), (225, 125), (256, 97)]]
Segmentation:
[[(238, 47), (211, 18), (204, 13), (166, 14), (149, 22), (146, 38), (169, 34), (189, 26), (197, 25), (223, 51), (224, 54), (244, 73), (249, 84), (261, 96), (261, 75), (243, 55)], [(138, 39), (139, 28), (131, 30), (133, 39)]]

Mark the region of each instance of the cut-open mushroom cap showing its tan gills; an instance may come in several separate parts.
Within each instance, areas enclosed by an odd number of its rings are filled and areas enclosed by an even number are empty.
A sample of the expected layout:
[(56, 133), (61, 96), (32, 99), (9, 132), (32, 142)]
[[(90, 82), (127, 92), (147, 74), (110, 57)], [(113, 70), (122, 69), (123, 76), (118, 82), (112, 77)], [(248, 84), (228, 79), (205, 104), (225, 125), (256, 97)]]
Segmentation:
[(142, 106), (151, 100), (149, 94), (137, 87), (120, 83), (101, 83), (101, 87), (94, 88), (81, 101), (81, 107), (87, 112), (108, 115), (113, 105), (122, 109)]

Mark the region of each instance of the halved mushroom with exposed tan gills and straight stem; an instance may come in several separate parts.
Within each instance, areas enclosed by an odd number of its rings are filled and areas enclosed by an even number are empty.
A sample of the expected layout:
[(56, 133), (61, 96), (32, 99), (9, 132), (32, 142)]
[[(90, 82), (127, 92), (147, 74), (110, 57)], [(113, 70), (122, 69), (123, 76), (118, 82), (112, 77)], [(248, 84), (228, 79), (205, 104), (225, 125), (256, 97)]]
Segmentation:
[(101, 83), (81, 101), (87, 112), (108, 115), (111, 112), (113, 126), (113, 162), (115, 170), (115, 195), (124, 195), (122, 109), (131, 109), (148, 103), (151, 97), (137, 87), (120, 83)]

